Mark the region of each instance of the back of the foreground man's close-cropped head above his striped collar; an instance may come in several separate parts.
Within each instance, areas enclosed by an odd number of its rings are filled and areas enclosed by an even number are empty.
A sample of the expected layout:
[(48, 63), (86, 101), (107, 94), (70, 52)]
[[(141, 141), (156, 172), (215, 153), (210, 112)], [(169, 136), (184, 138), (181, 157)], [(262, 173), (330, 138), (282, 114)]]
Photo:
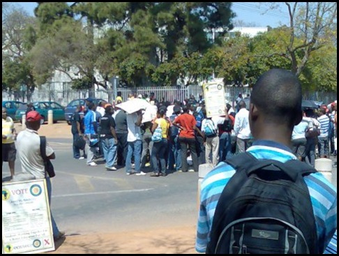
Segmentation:
[(292, 133), (302, 119), (301, 98), (301, 85), (292, 72), (275, 68), (260, 76), (250, 96), (253, 136), (267, 126), (276, 127), (271, 130), (277, 134)]

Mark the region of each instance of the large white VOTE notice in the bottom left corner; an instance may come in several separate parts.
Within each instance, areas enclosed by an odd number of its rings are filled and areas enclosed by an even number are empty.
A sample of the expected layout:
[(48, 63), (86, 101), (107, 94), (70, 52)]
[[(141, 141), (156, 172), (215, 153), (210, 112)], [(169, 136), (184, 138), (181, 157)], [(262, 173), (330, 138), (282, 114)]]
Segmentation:
[(2, 253), (54, 250), (45, 179), (2, 184)]

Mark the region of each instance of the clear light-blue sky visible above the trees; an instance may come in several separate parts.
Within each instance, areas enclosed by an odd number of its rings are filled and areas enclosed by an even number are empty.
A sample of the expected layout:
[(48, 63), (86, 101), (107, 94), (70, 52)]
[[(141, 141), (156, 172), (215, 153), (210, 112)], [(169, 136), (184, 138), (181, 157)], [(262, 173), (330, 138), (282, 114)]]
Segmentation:
[[(33, 10), (36, 8), (36, 2), (10, 2), (15, 6), (21, 6), (30, 15), (33, 15)], [(287, 8), (284, 3), (278, 3), (281, 11), (278, 9), (268, 10), (268, 3), (258, 2), (233, 2), (232, 10), (236, 13), (236, 20), (241, 20), (245, 24), (255, 24), (257, 27), (279, 27), (281, 24), (288, 24), (289, 17)], [(268, 10), (265, 12), (265, 10)]]

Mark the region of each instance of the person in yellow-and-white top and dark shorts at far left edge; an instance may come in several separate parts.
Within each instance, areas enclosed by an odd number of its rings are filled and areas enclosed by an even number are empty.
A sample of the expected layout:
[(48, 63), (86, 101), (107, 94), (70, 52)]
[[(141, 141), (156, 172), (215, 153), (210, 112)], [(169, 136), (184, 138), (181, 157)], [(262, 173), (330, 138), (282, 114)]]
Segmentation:
[(2, 158), (1, 166), (3, 162), (8, 162), (10, 169), (10, 179), (13, 179), (15, 169), (15, 155), (17, 150), (15, 149), (15, 128), (13, 119), (7, 116), (6, 107), (2, 108)]

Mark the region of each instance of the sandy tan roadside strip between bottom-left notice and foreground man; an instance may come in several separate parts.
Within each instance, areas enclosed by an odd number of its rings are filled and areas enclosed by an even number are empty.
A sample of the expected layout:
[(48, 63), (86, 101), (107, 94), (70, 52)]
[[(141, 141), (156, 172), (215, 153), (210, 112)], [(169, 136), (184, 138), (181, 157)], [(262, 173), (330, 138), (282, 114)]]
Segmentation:
[(110, 234), (68, 235), (55, 254), (192, 254), (195, 227)]

